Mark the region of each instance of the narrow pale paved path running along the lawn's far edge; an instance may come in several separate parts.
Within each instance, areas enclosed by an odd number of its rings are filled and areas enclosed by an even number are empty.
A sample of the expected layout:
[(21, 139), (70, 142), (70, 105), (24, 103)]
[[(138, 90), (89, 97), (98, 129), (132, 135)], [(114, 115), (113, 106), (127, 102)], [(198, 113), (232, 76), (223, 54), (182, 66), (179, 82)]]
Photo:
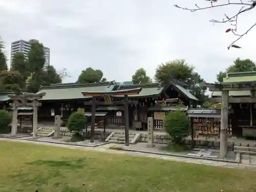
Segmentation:
[(197, 163), (197, 164), (205, 164), (205, 165), (212, 165), (212, 166), (223, 166), (229, 168), (246, 168), (256, 170), (256, 165), (251, 164), (242, 164), (242, 163), (226, 163), (226, 162), (219, 162), (219, 161), (210, 161), (210, 160), (200, 160), (200, 159), (191, 159), (191, 158), (182, 158), (182, 157), (172, 157), (172, 156), (165, 156), (165, 155), (153, 155), (153, 154), (143, 154), (138, 152), (127, 152), (127, 151), (120, 151), (120, 150), (110, 150), (110, 146), (114, 146), (116, 144), (106, 144), (99, 147), (85, 147), (85, 146), (75, 146), (75, 145), (68, 145), (68, 144), (56, 144), (56, 143), (46, 143), (46, 142), (38, 142), (38, 141), (28, 141), (23, 139), (9, 139), (9, 138), (0, 138), (0, 141), (13, 141), (13, 142), (24, 142), (24, 143), (35, 143), (41, 145), (53, 145), (53, 146), (60, 146), (72, 149), (79, 149), (79, 150), (91, 150), (91, 151), (98, 151), (104, 153), (112, 153), (112, 154), (127, 154), (133, 156), (144, 156), (144, 157), (152, 157), (164, 160), (172, 160), (172, 161), (181, 161), (187, 163)]

